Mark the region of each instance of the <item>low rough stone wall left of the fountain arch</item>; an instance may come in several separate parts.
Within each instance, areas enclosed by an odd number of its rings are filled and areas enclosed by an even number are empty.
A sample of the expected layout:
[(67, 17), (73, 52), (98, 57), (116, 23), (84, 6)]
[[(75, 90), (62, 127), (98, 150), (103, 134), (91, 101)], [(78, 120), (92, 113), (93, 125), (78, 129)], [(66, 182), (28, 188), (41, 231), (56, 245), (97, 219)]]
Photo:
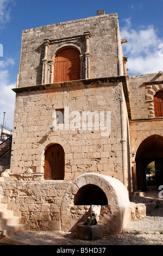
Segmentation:
[(1, 203), (31, 230), (60, 230), (60, 204), (67, 187), (65, 181), (0, 182)]

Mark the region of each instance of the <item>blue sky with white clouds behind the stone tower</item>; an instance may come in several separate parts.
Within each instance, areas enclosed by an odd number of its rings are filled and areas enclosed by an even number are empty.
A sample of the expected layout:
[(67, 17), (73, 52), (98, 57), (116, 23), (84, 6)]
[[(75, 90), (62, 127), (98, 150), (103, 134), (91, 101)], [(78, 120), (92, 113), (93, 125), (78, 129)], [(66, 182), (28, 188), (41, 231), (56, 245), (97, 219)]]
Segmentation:
[[(0, 0), (0, 124), (12, 128), (23, 29), (118, 13), (129, 75), (163, 71), (163, 0)], [(3, 56), (1, 53), (3, 46)]]

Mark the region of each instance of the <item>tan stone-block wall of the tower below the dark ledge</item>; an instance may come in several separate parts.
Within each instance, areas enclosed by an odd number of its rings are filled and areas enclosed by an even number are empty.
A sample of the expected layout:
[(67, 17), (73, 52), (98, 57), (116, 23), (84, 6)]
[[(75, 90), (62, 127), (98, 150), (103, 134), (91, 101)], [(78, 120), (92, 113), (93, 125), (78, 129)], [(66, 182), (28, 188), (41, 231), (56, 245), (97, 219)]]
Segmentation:
[[(17, 90), (10, 178), (42, 180), (45, 150), (48, 145), (59, 143), (65, 151), (65, 180), (71, 181), (86, 172), (97, 172), (123, 182), (120, 108), (123, 79), (124, 76), (117, 81), (104, 78), (58, 83), (20, 93)], [(123, 104), (126, 106), (125, 101)], [(100, 123), (96, 130), (94, 120), (91, 130), (83, 130), (81, 120), (80, 129), (51, 132), (55, 109), (65, 107), (69, 107), (70, 113), (76, 111), (77, 114), (89, 111), (104, 111), (106, 114), (108, 111), (111, 115), (111, 121), (108, 119), (110, 127), (107, 128), (110, 135), (103, 136)], [(124, 113), (124, 118), (127, 119), (127, 113)], [(125, 124), (125, 138), (126, 132)], [(125, 140), (124, 143), (128, 142)], [(127, 157), (127, 153), (125, 155)]]

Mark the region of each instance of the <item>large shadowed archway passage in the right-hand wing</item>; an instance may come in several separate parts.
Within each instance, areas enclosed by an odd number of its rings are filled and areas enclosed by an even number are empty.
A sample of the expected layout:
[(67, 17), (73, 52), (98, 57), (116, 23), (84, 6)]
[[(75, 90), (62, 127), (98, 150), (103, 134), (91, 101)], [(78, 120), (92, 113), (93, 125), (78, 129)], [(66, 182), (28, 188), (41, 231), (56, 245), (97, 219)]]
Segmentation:
[(163, 184), (163, 137), (152, 135), (146, 138), (136, 151), (137, 190), (147, 190), (146, 167), (155, 161), (157, 187)]

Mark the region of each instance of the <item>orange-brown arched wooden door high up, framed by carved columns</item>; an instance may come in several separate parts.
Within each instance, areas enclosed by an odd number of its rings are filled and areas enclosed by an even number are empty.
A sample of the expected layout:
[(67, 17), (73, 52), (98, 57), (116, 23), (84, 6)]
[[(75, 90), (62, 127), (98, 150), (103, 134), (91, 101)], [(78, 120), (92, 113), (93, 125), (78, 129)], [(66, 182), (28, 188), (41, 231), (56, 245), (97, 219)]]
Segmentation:
[(54, 59), (54, 83), (80, 80), (80, 53), (77, 48), (61, 50)]

